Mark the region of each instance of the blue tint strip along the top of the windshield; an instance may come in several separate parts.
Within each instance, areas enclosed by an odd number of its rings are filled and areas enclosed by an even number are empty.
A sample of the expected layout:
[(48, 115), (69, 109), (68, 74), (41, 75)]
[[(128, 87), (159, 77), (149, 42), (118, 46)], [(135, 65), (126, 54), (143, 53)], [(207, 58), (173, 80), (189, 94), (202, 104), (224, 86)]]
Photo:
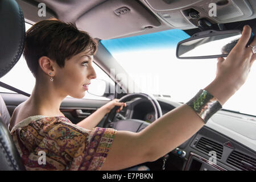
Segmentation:
[(110, 53), (143, 49), (167, 49), (176, 48), (177, 43), (189, 37), (183, 30), (172, 29), (129, 38), (101, 40), (101, 44)]

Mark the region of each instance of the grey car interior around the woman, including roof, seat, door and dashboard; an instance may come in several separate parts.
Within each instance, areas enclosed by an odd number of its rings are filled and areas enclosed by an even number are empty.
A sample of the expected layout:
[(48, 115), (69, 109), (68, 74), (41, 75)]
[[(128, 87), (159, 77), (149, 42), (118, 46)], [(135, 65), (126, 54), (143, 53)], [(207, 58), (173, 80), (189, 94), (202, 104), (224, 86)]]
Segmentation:
[[(210, 3), (217, 7), (216, 16), (210, 14), (214, 13), (214, 6), (209, 6)], [(45, 14), (39, 11), (44, 5)], [(94, 63), (109, 76), (114, 88), (126, 90), (125, 93), (105, 93), (107, 100), (67, 97), (61, 103), (61, 113), (76, 124), (110, 100), (119, 98), (120, 102), (126, 102), (127, 107), (123, 107), (119, 113), (115, 113), (118, 109), (115, 107), (105, 115), (98, 127), (140, 132), (183, 103), (172, 101), (169, 96), (160, 94), (150, 96), (146, 93), (134, 93), (134, 84), (115, 77), (118, 73), (127, 77), (129, 75), (101, 40), (129, 38), (174, 29), (183, 30), (192, 36), (206, 30), (242, 30), (246, 24), (256, 32), (256, 1), (2, 0), (0, 77), (5, 76), (22, 56), (25, 23), (34, 24), (48, 18), (71, 22), (97, 39), (98, 51), (94, 56)], [(115, 68), (114, 76), (111, 74), (112, 68)], [(26, 101), (30, 94), (11, 86), (11, 82), (0, 83), (3, 88), (13, 91), (0, 92), (0, 170), (24, 170), (7, 126), (14, 109)], [(154, 162), (139, 166), (147, 167), (151, 171), (255, 171), (255, 115), (222, 109), (175, 150)], [(210, 160), (210, 151), (216, 151), (217, 163)]]

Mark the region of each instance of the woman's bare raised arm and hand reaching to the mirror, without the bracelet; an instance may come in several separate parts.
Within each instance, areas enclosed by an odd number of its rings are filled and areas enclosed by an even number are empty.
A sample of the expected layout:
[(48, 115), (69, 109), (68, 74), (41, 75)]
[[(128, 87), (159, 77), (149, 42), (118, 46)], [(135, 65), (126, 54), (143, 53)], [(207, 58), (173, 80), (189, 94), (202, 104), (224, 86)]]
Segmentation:
[[(218, 59), (216, 78), (204, 90), (217, 98), (221, 105), (245, 83), (256, 59), (246, 48), (251, 28), (245, 26), (237, 45), (226, 59)], [(256, 45), (254, 38), (251, 46)], [(188, 88), (189, 92), (189, 88)], [(158, 118), (140, 133), (117, 131), (102, 170), (117, 170), (159, 159), (192, 137), (204, 126), (195, 110), (184, 104)]]

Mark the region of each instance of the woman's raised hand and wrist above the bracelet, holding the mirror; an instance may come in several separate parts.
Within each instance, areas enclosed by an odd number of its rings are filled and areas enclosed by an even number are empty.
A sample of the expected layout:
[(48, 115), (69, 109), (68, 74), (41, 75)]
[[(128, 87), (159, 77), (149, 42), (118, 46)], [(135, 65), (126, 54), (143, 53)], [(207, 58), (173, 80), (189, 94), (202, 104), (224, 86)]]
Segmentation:
[[(250, 68), (256, 59), (251, 47), (246, 47), (251, 36), (250, 26), (244, 26), (240, 40), (224, 59), (220, 57), (217, 63), (216, 78), (205, 88), (223, 105), (245, 83)], [(251, 46), (256, 46), (254, 37)]]

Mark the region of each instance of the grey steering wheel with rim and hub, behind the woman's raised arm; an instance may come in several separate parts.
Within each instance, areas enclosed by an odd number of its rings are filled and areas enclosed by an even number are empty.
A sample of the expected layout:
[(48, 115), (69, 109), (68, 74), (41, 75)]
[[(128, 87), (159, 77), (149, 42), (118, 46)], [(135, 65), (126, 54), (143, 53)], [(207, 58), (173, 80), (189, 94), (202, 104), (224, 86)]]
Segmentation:
[[(119, 102), (127, 102), (132, 100), (133, 98), (146, 98), (150, 101), (151, 105), (154, 107), (155, 110), (155, 119), (158, 119), (162, 117), (162, 109), (158, 103), (158, 101), (146, 94), (146, 93), (131, 93), (127, 94), (126, 96), (123, 96), (120, 98)], [(121, 119), (119, 121), (112, 122), (114, 119), (114, 116), (116, 114), (116, 110), (119, 108), (119, 106), (115, 106), (110, 112), (106, 119), (106, 125), (105, 127), (111, 127), (115, 130), (126, 130), (126, 131), (133, 131), (133, 132), (139, 132), (143, 130), (145, 127), (150, 125), (150, 123), (147, 123), (145, 121), (142, 121), (140, 119)]]

